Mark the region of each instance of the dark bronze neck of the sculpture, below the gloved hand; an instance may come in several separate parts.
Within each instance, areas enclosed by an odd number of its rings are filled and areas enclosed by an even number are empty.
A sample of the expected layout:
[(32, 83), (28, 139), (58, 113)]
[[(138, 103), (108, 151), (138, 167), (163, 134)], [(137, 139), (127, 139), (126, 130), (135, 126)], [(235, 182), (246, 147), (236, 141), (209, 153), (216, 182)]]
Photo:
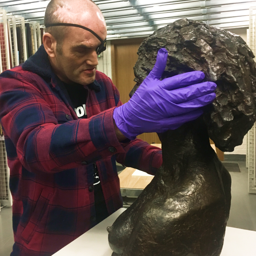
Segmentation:
[(163, 174), (174, 180), (186, 175), (192, 166), (209, 163), (214, 156), (202, 118), (158, 135), (162, 142)]

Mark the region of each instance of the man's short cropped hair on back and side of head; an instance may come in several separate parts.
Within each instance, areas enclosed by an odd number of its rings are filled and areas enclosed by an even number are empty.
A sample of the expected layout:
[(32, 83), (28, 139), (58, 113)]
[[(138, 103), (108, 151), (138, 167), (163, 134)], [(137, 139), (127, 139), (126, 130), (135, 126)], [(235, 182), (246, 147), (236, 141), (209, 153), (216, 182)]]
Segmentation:
[[(44, 25), (47, 26), (49, 24), (64, 23), (64, 22), (70, 23), (67, 20), (68, 15), (67, 15), (67, 17), (60, 16), (60, 15), (58, 15), (58, 13), (56, 13), (56, 11), (59, 8), (71, 9), (72, 4), (74, 5), (76, 2), (77, 2), (77, 4), (86, 4), (88, 2), (94, 3), (92, 0), (51, 0), (45, 10)], [(64, 26), (49, 27), (49, 28), (45, 29), (45, 32), (48, 32), (52, 36), (54, 36), (54, 38), (57, 42), (56, 50), (59, 53), (61, 53), (62, 42), (63, 42), (63, 39), (65, 38), (66, 31), (67, 31), (67, 27), (64, 27)]]

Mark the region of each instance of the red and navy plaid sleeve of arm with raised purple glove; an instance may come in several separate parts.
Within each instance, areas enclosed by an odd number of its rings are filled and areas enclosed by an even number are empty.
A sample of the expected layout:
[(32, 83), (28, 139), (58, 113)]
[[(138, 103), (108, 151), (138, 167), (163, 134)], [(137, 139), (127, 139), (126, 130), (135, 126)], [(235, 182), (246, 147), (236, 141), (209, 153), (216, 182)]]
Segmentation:
[(27, 170), (60, 172), (125, 152), (116, 138), (114, 108), (89, 119), (58, 124), (44, 96), (15, 72), (1, 74), (1, 124), (10, 138), (9, 148), (16, 149)]

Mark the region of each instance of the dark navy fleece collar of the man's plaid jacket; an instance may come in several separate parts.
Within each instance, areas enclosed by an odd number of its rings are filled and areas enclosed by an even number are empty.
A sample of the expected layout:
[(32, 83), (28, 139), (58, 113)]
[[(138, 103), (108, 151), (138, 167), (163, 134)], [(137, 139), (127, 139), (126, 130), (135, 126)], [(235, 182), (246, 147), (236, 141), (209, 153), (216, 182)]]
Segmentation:
[[(33, 72), (43, 78), (52, 78), (55, 76), (52, 71), (50, 61), (48, 59), (48, 54), (45, 51), (43, 44), (39, 47), (34, 55), (32, 55), (22, 64), (22, 68), (24, 70)], [(88, 84), (87, 86), (89, 89), (94, 90), (95, 92), (100, 92), (101, 86), (96, 80), (94, 80), (92, 84)]]

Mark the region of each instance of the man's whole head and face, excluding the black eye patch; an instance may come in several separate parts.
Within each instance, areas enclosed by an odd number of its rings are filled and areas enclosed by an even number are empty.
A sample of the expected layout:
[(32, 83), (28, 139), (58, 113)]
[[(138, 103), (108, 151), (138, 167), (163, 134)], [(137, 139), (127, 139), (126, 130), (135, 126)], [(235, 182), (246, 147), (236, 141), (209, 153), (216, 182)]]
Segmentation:
[(52, 0), (46, 8), (44, 23), (46, 26), (71, 23), (89, 28), (50, 26), (45, 29), (43, 44), (52, 70), (61, 81), (93, 83), (99, 63), (97, 52), (107, 37), (106, 22), (98, 6), (91, 0)]

